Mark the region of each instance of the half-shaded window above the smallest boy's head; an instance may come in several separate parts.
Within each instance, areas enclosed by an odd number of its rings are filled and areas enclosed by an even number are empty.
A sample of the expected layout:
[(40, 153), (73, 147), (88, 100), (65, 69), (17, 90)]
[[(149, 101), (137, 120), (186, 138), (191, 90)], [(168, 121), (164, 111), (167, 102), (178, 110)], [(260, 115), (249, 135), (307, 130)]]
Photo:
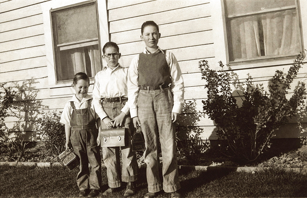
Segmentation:
[(56, 81), (70, 81), (78, 72), (95, 77), (102, 68), (96, 2), (50, 12)]

